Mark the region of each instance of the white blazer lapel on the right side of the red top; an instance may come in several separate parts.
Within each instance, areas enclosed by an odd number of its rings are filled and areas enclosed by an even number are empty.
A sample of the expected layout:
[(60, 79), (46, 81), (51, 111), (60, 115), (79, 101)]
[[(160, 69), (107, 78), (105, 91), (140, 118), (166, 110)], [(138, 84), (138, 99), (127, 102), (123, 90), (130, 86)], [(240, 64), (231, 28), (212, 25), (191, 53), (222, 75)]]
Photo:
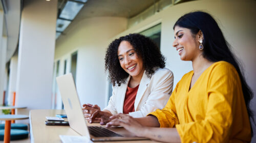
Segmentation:
[(137, 110), (138, 105), (140, 103), (140, 100), (143, 97), (144, 92), (146, 91), (147, 84), (150, 82), (150, 78), (147, 77), (145, 72), (146, 71), (144, 71), (144, 74), (143, 74), (143, 76), (142, 76), (142, 78), (140, 80), (139, 89), (138, 89), (138, 92), (137, 92), (137, 95), (136, 95), (136, 98), (135, 98), (135, 102), (134, 102), (134, 109), (135, 109), (135, 111)]

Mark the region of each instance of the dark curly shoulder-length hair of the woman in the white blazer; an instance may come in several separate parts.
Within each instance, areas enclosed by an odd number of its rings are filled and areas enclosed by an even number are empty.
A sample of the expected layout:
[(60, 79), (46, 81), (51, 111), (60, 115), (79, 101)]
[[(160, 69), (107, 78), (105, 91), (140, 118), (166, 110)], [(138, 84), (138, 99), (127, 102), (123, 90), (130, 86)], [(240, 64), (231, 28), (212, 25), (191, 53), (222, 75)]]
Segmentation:
[(120, 37), (110, 43), (105, 55), (105, 71), (109, 73), (109, 78), (114, 86), (116, 84), (120, 86), (129, 76), (122, 69), (117, 55), (118, 47), (122, 41), (129, 42), (137, 54), (142, 57), (143, 67), (148, 77), (151, 77), (156, 68), (165, 67), (165, 58), (161, 54), (160, 48), (150, 38), (140, 34), (129, 34)]

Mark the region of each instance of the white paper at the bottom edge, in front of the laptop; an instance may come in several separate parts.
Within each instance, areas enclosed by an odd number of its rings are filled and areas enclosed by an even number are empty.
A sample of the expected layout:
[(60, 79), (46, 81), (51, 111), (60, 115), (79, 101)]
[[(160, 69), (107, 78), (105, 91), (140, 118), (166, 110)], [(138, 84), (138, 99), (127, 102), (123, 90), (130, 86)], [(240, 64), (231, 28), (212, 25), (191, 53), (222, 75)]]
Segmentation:
[(86, 136), (59, 135), (62, 143), (93, 143)]

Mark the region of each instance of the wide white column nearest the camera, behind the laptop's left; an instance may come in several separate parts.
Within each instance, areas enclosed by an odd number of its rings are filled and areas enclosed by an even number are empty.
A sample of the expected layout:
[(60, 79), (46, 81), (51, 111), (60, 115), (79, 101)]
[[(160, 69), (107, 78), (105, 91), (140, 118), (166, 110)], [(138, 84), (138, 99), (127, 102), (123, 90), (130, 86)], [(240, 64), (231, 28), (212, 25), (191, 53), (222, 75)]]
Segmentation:
[(16, 83), (19, 114), (50, 109), (57, 1), (26, 0), (20, 21)]

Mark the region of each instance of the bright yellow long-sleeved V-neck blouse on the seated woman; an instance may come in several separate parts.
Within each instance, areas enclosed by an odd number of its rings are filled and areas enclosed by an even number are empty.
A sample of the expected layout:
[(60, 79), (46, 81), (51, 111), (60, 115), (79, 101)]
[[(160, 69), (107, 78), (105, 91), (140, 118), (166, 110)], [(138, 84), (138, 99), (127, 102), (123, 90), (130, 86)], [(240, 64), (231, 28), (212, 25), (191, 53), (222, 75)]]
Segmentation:
[(160, 127), (176, 127), (181, 142), (250, 142), (249, 117), (237, 70), (227, 62), (207, 68), (189, 90), (185, 74), (166, 106), (151, 112)]

